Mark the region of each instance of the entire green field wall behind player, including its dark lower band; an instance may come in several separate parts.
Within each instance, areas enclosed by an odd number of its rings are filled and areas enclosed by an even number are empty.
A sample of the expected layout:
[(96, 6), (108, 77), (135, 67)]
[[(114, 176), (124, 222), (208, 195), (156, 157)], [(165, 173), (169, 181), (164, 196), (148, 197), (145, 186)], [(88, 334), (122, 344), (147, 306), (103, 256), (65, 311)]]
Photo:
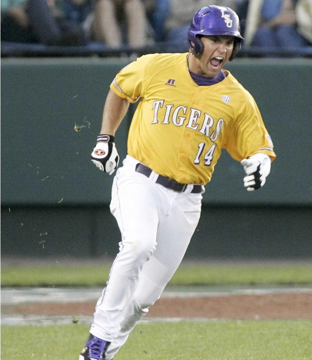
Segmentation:
[[(1, 61), (3, 255), (116, 254), (113, 177), (90, 153), (109, 84), (129, 61)], [(226, 68), (256, 99), (277, 159), (265, 187), (247, 192), (243, 168), (222, 152), (187, 256), (312, 257), (312, 60), (236, 59)], [(121, 158), (134, 109), (116, 133)]]

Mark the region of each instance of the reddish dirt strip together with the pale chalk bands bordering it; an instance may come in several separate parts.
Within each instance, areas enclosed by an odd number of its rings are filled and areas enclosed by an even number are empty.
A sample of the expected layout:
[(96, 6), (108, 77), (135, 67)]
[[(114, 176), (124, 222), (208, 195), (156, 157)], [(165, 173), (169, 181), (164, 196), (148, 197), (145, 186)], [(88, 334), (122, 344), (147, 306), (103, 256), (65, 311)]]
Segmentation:
[[(90, 289), (89, 289), (90, 290)], [(11, 294), (10, 294), (11, 291)], [(44, 289), (5, 289), (2, 306), (2, 324), (27, 323), (53, 316), (66, 321), (90, 322), (94, 312), (97, 290), (90, 290), (94, 300), (81, 301), (83, 291), (74, 289), (52, 289), (49, 296), (42, 296)], [(58, 292), (63, 291), (60, 297)], [(100, 291), (100, 290), (99, 290)], [(20, 292), (18, 294), (18, 292)], [(48, 291), (49, 293), (49, 291)], [(58, 294), (58, 296), (56, 296)], [(100, 293), (99, 293), (100, 294)], [(41, 296), (40, 296), (41, 295)], [(12, 302), (10, 301), (10, 297)], [(18, 298), (21, 301), (18, 301)], [(40, 301), (41, 298), (41, 301)], [(72, 299), (72, 300), (71, 300)], [(35, 300), (35, 301), (34, 301)], [(67, 320), (66, 320), (67, 319)], [(150, 307), (145, 321), (181, 321), (183, 319), (312, 319), (312, 289), (234, 289), (232, 292), (164, 292)], [(175, 319), (175, 320), (174, 320)], [(55, 319), (56, 320), (56, 319)], [(59, 322), (56, 321), (56, 322)], [(40, 322), (40, 321), (39, 321)], [(49, 322), (49, 321), (48, 321)]]

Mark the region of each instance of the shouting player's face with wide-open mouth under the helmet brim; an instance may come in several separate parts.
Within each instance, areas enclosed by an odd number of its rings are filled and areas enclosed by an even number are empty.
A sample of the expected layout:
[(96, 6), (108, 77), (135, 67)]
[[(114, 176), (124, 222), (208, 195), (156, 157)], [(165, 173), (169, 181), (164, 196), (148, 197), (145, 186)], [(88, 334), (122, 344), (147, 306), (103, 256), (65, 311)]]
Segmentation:
[(203, 36), (200, 38), (204, 44), (204, 51), (196, 59), (198, 60), (197, 73), (215, 77), (221, 71), (224, 64), (229, 60), (234, 46), (234, 37), (225, 35)]

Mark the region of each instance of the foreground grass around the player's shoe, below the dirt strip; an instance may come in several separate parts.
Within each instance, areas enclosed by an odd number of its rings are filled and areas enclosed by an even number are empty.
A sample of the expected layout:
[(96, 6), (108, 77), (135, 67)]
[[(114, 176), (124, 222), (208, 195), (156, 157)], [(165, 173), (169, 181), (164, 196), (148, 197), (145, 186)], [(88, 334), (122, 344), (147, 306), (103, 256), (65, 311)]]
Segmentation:
[[(312, 321), (139, 324), (114, 360), (311, 360)], [(78, 359), (89, 325), (1, 328), (1, 359)]]

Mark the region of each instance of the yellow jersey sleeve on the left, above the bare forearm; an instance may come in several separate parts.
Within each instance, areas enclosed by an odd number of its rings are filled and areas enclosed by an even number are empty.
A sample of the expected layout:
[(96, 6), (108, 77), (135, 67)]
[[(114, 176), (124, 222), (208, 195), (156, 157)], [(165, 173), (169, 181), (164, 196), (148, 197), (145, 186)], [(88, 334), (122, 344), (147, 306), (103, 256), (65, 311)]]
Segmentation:
[(153, 54), (141, 56), (121, 69), (110, 84), (110, 89), (130, 103), (144, 98), (146, 66), (150, 63), (152, 56)]

